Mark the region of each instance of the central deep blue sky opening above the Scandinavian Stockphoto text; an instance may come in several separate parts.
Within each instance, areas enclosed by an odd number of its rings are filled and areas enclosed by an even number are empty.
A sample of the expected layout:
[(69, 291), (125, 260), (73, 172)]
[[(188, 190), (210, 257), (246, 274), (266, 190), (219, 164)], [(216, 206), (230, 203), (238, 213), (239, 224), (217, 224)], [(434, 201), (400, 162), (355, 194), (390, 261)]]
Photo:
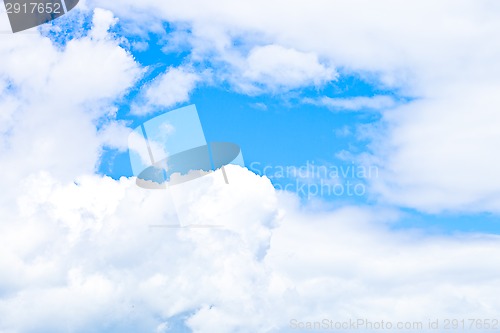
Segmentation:
[[(168, 25), (165, 24), (168, 33)], [(377, 82), (369, 82), (354, 73), (339, 75), (338, 79), (321, 87), (304, 87), (284, 93), (263, 91), (257, 95), (234, 91), (228, 84), (202, 84), (190, 93), (189, 101), (170, 107), (156, 107), (148, 116), (131, 114), (130, 105), (137, 98), (140, 86), (154, 80), (169, 67), (177, 67), (190, 61), (189, 50), (162, 50), (165, 32), (149, 33), (143, 38), (128, 37), (118, 25), (113, 31), (127, 37), (129, 42), (146, 43), (147, 48), (131, 50), (143, 66), (149, 66), (148, 74), (120, 103), (118, 120), (125, 120), (135, 127), (144, 120), (170, 110), (195, 104), (198, 107), (205, 136), (208, 141), (238, 143), (244, 152), (247, 167), (263, 175), (266, 166), (318, 165), (352, 166), (351, 160), (336, 155), (341, 151), (359, 154), (367, 150), (367, 141), (356, 135), (358, 126), (380, 120), (373, 109), (348, 112), (341, 108), (329, 109), (308, 103), (308, 99), (322, 96), (332, 98), (373, 97), (385, 95), (395, 100), (404, 99), (397, 91), (383, 88)], [(261, 172), (259, 172), (261, 171)], [(102, 158), (99, 172), (115, 179), (132, 176), (128, 152), (108, 150)], [(274, 179), (281, 186), (294, 182), (290, 179)], [(360, 198), (363, 200), (362, 198)]]

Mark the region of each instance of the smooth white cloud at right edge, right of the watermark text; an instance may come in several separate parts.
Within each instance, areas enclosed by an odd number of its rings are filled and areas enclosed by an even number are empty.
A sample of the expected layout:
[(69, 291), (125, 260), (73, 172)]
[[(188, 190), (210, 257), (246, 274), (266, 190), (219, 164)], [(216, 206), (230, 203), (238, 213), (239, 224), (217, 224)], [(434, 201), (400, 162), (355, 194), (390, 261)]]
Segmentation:
[(382, 200), (428, 212), (500, 212), (495, 90), (466, 84), (452, 88), (453, 98), (386, 114), (387, 132), (372, 135), (378, 144), (371, 162), (381, 176), (373, 185)]

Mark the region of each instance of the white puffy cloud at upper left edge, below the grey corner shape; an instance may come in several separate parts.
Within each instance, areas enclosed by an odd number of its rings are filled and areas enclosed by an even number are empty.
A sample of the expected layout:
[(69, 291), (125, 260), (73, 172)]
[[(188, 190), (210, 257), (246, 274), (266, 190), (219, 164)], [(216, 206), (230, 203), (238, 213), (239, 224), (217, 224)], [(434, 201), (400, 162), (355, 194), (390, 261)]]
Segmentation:
[[(101, 37), (111, 21), (96, 11)], [(133, 57), (111, 37), (77, 38), (64, 48), (38, 34), (1, 38), (0, 76), (9, 88), (0, 96), (7, 111), (0, 163), (10, 174), (2, 187), (39, 170), (66, 180), (92, 173), (106, 141), (96, 123), (114, 118), (114, 101), (141, 74)]]

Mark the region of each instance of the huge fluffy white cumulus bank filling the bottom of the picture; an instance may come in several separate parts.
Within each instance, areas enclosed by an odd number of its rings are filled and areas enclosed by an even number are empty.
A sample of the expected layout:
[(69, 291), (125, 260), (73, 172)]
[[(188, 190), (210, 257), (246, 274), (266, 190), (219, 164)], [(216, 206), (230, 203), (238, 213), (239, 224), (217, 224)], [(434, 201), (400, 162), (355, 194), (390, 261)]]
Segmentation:
[[(267, 178), (226, 171), (229, 185), (217, 172), (172, 192), (24, 179), (2, 223), (1, 330), (287, 332), (293, 319), (496, 315), (498, 237), (391, 231), (394, 213), (371, 208), (313, 213)], [(179, 218), (191, 227), (172, 228)]]

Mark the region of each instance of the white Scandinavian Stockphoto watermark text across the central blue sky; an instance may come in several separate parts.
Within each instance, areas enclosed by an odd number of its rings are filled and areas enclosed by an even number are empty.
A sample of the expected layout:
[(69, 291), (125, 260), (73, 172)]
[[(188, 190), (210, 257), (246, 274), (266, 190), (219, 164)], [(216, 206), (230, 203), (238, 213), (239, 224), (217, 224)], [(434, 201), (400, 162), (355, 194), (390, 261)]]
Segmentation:
[(354, 162), (325, 165), (307, 161), (301, 166), (253, 162), (249, 169), (268, 177), (277, 190), (294, 192), (303, 198), (362, 197), (367, 194), (367, 182), (379, 176), (377, 166)]

